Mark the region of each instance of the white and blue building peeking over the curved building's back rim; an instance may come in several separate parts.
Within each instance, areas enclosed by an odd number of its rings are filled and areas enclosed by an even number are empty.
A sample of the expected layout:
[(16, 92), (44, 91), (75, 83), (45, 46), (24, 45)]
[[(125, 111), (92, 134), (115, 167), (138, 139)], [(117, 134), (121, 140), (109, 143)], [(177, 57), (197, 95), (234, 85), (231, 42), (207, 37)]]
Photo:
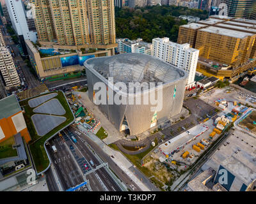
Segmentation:
[(118, 43), (117, 52), (119, 53), (140, 53), (152, 55), (152, 44), (137, 40), (129, 40), (128, 38), (120, 38), (116, 40)]

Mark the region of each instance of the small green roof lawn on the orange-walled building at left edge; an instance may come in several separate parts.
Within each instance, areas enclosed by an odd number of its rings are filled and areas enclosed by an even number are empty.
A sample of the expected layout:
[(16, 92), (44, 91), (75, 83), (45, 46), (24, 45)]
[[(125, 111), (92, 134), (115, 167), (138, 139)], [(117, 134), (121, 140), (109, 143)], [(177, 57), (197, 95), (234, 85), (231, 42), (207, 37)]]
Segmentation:
[(12, 148), (15, 145), (13, 136), (0, 143), (0, 159), (18, 156), (17, 150)]

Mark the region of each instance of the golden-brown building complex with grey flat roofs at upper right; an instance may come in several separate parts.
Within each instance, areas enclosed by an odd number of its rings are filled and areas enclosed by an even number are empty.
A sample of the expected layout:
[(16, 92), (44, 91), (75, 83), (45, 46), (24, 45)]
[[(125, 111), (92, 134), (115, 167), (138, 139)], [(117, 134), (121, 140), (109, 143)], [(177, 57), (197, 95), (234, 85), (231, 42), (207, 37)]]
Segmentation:
[(181, 25), (178, 42), (193, 41), (192, 47), (200, 50), (197, 71), (234, 82), (256, 66), (255, 25), (256, 20), (213, 15), (210, 20)]

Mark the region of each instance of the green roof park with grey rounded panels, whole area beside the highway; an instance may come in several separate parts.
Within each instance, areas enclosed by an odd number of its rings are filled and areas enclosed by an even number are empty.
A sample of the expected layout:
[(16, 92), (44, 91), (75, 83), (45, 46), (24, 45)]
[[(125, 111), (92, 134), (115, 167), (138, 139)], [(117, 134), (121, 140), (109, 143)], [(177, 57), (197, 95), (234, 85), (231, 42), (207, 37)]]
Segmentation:
[[(56, 101), (58, 103), (58, 107), (55, 110), (54, 104), (56, 103)], [(20, 101), (19, 103), (20, 106), (22, 106), (25, 110), (24, 119), (26, 121), (29, 134), (31, 136), (31, 141), (29, 142), (29, 149), (33, 157), (36, 172), (40, 173), (44, 171), (50, 164), (49, 158), (47, 157), (44, 148), (45, 141), (56, 135), (61, 129), (66, 128), (67, 126), (72, 124), (72, 122), (74, 122), (74, 115), (70, 109), (70, 106), (68, 105), (65, 95), (61, 91), (42, 94), (41, 96), (36, 96), (32, 99), (26, 99)], [(49, 108), (45, 108), (45, 104), (48, 104)], [(52, 110), (52, 113), (49, 112), (49, 110)], [(38, 112), (42, 114), (38, 114)], [(45, 113), (50, 115), (45, 115)], [(58, 115), (54, 115), (56, 113), (58, 113)], [(61, 115), (61, 118), (65, 118), (65, 120), (61, 120), (61, 122), (55, 121), (54, 125), (51, 126), (51, 128), (42, 129), (40, 128), (40, 126), (45, 126), (43, 124), (39, 124), (38, 122), (36, 123), (38, 115), (40, 117), (45, 117), (46, 120), (48, 119), (48, 117), (57, 118), (60, 117), (59, 115)]]

